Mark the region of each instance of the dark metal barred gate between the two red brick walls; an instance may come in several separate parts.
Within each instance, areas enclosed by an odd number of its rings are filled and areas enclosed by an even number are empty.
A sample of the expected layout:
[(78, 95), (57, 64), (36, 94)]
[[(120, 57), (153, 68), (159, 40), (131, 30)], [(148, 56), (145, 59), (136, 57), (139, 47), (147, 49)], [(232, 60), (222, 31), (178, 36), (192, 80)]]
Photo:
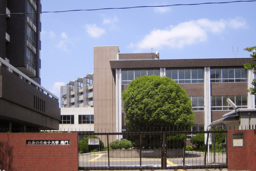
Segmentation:
[[(79, 170), (159, 170), (159, 169), (222, 169), (227, 168), (227, 155), (224, 142), (227, 131), (172, 131), (161, 128), (157, 130), (142, 130), (141, 132), (122, 133), (86, 133), (79, 132), (80, 137), (101, 140), (105, 147), (88, 145), (86, 152), (79, 154)], [(220, 135), (222, 140), (219, 140)], [(203, 137), (200, 137), (200, 136)], [(208, 145), (212, 135), (212, 145)], [(191, 150), (192, 137), (205, 139), (206, 145), (196, 144), (198, 150)], [(96, 138), (97, 137), (97, 138)], [(224, 137), (224, 139), (223, 139)], [(132, 147), (129, 149), (111, 150), (116, 140), (129, 139)], [(87, 141), (86, 140), (86, 141)], [(81, 147), (80, 141), (80, 147)], [(111, 143), (112, 142), (112, 143)], [(219, 143), (219, 142), (218, 142)], [(90, 144), (90, 143), (89, 143)], [(113, 145), (114, 144), (114, 145)], [(192, 146), (187, 146), (187, 145)], [(221, 146), (223, 145), (223, 147)], [(189, 149), (190, 148), (190, 149)], [(202, 151), (203, 149), (203, 151)], [(201, 150), (201, 151), (200, 151)], [(98, 152), (97, 152), (98, 151)]]

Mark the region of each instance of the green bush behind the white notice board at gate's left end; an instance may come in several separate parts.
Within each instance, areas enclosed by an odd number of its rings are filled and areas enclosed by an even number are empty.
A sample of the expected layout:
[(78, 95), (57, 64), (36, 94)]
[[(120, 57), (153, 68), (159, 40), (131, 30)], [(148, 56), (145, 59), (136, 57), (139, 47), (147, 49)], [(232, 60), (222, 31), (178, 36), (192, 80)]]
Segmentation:
[[(99, 149), (98, 145), (88, 145), (88, 138), (97, 138), (96, 135), (90, 135), (88, 137), (83, 137), (83, 139), (79, 142), (79, 153), (87, 153), (91, 152), (95, 149)], [(100, 140), (100, 150), (104, 148), (104, 143)]]

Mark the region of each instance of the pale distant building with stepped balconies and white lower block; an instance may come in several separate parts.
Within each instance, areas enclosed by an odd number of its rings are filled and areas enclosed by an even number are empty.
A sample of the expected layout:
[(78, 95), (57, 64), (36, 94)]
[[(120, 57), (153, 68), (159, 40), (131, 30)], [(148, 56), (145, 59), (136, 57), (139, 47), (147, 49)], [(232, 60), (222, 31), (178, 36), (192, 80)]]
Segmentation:
[(93, 74), (60, 87), (60, 130), (94, 132)]

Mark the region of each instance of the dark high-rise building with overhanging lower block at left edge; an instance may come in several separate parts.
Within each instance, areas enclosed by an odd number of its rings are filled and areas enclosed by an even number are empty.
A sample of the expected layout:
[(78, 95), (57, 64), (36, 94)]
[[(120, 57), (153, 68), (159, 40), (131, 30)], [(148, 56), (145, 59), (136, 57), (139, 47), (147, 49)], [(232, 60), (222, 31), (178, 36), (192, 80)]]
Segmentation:
[(40, 85), (40, 2), (0, 1), (0, 132), (59, 128), (59, 99)]

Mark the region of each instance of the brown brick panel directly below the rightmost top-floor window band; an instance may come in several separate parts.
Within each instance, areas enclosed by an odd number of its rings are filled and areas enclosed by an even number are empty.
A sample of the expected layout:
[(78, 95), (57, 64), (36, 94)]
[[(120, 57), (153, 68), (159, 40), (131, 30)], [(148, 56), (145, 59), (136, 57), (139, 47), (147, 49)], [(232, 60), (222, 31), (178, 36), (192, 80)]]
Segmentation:
[(247, 82), (211, 83), (212, 96), (247, 95)]

